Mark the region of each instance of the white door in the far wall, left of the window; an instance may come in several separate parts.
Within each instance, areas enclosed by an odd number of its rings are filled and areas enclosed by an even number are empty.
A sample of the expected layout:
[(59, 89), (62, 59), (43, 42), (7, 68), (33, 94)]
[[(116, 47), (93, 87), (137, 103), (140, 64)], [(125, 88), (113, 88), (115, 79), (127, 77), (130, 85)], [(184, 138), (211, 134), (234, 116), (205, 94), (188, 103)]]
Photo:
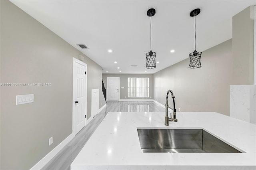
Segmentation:
[(119, 77), (108, 77), (108, 101), (119, 101)]

